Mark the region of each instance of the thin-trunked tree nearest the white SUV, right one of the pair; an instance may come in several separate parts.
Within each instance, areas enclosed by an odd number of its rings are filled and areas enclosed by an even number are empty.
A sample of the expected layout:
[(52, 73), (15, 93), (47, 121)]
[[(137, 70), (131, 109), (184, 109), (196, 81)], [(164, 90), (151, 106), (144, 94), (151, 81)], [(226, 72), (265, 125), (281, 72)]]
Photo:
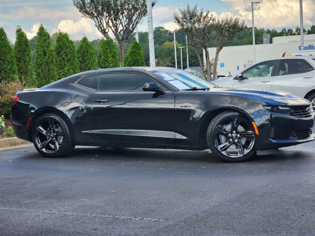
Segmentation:
[(245, 22), (241, 22), (239, 18), (226, 17), (224, 19), (218, 18), (214, 20), (213, 29), (216, 32), (217, 41), (217, 51), (213, 70), (214, 78), (216, 78), (215, 75), (217, 73), (218, 58), (222, 48), (232, 42), (232, 39), (235, 37), (235, 35), (244, 30), (245, 27)]

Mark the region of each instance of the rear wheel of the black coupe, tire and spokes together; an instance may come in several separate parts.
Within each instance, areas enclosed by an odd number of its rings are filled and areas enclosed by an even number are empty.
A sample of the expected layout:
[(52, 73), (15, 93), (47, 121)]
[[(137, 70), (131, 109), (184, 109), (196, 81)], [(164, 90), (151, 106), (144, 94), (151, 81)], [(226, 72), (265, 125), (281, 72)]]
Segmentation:
[[(53, 127), (49, 125), (49, 122), (53, 123)], [(44, 128), (47, 126), (48, 128)], [(55, 130), (56, 127), (58, 127), (57, 130)], [(48, 129), (50, 129), (51, 132), (48, 131)], [(49, 136), (54, 135), (54, 133), (55, 136)], [(51, 141), (47, 143), (45, 139), (47, 139), (47, 142), (49, 139), (51, 139)], [(36, 150), (45, 157), (63, 157), (72, 152), (75, 147), (72, 142), (70, 125), (66, 120), (54, 113), (47, 113), (36, 119), (32, 131), (32, 142)], [(40, 144), (42, 143), (47, 143), (44, 148), (40, 148)], [(54, 146), (54, 148), (52, 148), (52, 146)]]

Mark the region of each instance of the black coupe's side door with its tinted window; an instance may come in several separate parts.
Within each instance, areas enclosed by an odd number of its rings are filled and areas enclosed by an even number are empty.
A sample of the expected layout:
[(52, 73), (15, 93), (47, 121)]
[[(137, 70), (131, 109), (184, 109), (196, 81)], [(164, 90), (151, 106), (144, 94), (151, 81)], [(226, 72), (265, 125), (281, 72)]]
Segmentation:
[(143, 91), (145, 83), (157, 82), (139, 73), (101, 74), (87, 100), (91, 132), (104, 141), (173, 144), (174, 93), (161, 85), (162, 95)]

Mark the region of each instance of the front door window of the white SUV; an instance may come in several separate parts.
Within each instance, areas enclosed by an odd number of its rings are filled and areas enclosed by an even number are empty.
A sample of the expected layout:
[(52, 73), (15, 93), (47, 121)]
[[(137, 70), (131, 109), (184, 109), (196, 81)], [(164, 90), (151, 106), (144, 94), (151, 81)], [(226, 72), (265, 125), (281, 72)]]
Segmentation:
[(252, 66), (248, 70), (243, 72), (244, 79), (254, 79), (261, 77), (271, 77), (272, 70), (274, 68), (275, 61), (269, 60), (261, 62), (257, 65)]

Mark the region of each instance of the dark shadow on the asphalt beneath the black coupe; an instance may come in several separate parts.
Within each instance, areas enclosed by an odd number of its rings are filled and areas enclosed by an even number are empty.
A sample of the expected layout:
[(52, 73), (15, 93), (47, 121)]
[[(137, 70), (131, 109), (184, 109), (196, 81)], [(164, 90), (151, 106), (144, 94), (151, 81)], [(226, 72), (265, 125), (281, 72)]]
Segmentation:
[[(56, 161), (84, 161), (95, 160), (106, 162), (117, 162), (120, 164), (131, 162), (151, 162), (151, 163), (199, 163), (206, 164), (226, 164), (237, 165), (238, 163), (226, 163), (221, 161), (216, 155), (209, 150), (192, 151), (176, 149), (147, 149), (147, 148), (95, 148), (95, 147), (78, 147), (74, 151), (62, 158), (44, 158), (37, 151), (29, 152), (22, 157), (25, 160), (30, 159), (54, 159)], [(299, 161), (312, 159), (313, 153), (301, 150), (291, 150), (287, 148), (280, 149), (273, 154), (257, 155), (251, 160), (243, 163), (274, 163), (286, 161)]]

